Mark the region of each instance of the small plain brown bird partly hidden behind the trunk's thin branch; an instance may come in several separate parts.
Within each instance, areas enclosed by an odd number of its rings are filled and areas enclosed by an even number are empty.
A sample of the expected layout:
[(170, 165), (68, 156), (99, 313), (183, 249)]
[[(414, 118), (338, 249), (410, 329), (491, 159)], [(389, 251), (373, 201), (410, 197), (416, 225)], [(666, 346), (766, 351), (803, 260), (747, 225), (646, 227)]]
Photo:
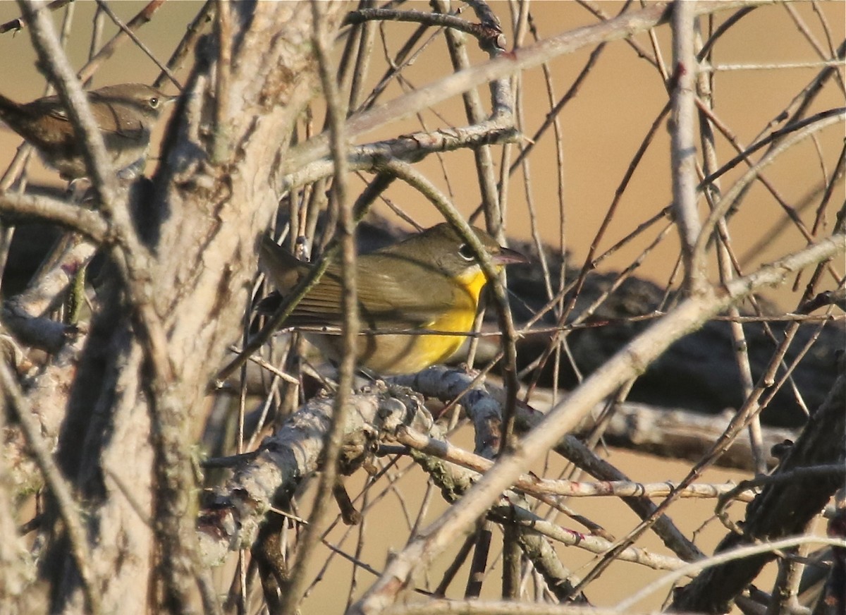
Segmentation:
[[(91, 113), (118, 171), (146, 156), (162, 107), (176, 98), (140, 83), (107, 85), (87, 94)], [(35, 146), (44, 162), (58, 170), (62, 178), (85, 177), (85, 160), (74, 126), (58, 96), (22, 104), (0, 95), (0, 118)]]

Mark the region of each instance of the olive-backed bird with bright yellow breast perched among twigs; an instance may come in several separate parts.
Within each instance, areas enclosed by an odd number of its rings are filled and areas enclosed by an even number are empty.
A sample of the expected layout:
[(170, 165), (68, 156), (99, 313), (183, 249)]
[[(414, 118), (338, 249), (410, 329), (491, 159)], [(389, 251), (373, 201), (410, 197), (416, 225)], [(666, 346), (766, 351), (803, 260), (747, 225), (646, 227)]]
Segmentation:
[[(473, 231), (497, 269), (527, 261), (524, 255), (499, 245), (480, 228)], [(261, 242), (260, 262), (283, 295), (311, 268), (269, 237)], [(415, 330), (470, 332), (487, 278), (470, 245), (444, 222), (397, 244), (360, 255), (356, 261), (356, 283), (362, 329), (409, 331), (361, 334), (356, 352), (359, 365), (381, 374), (409, 374), (447, 360), (464, 342), (461, 335), (415, 334)], [(283, 326), (339, 327), (342, 320), (341, 267), (333, 262)], [(338, 360), (337, 335), (307, 337), (329, 359)]]

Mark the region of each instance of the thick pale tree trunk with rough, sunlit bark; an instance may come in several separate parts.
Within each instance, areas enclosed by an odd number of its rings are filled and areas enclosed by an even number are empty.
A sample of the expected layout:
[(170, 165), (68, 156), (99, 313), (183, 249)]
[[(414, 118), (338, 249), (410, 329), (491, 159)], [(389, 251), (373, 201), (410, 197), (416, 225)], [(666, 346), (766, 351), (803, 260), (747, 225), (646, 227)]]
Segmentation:
[[(342, 8), (321, 4), (330, 27), (337, 27)], [(228, 133), (217, 135), (228, 141), (227, 162), (216, 166), (206, 156), (216, 135), (194, 140), (190, 122), (200, 118), (191, 112), (214, 108), (214, 101), (198, 98), (208, 96), (209, 83), (202, 68), (207, 63), (200, 62), (173, 117), (151, 198), (140, 203), (159, 214), (160, 226), (143, 234), (157, 238), (147, 263), (150, 295), (167, 334), (173, 378), (165, 390), (146, 387), (145, 340), (113, 292), (106, 300), (115, 303), (92, 322), (79, 365), (86, 377), (77, 379), (84, 385), (72, 394), (59, 443), (66, 475), (94, 502), (86, 529), (104, 612), (187, 606), (184, 597), (193, 588), (185, 581), (198, 574), (192, 549), (184, 548), (195, 541), (192, 428), (210, 377), (227, 345), (238, 339), (256, 239), (280, 198), (285, 170), (278, 161), (316, 92), (309, 3), (239, 3), (231, 10), (235, 43), (223, 124)], [(200, 53), (216, 53), (215, 41), (210, 36)], [(170, 523), (163, 519), (168, 517)], [(174, 529), (183, 546), (168, 544)], [(162, 537), (163, 552), (155, 552)], [(53, 610), (80, 612), (84, 598), (74, 558), (66, 541), (57, 539), (47, 558), (60, 588)], [(168, 577), (181, 586), (168, 586)]]

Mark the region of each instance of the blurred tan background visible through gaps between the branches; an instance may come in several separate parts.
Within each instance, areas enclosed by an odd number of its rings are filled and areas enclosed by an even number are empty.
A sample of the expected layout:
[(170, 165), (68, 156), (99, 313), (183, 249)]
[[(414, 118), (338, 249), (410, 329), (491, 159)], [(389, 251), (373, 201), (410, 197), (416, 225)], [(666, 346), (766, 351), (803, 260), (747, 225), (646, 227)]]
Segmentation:
[[(514, 41), (513, 31), (509, 25), (512, 19), (510, 5), (505, 2), (492, 2), (491, 5), (503, 22), (503, 30), (508, 36), (510, 46)], [(110, 3), (110, 6), (122, 19), (126, 20), (143, 7), (144, 3), (115, 2)], [(158, 58), (162, 61), (166, 60), (176, 42), (183, 36), (185, 25), (200, 6), (200, 3), (189, 0), (165, 3), (156, 14), (154, 21), (140, 30), (141, 39), (151, 47)], [(428, 3), (423, 2), (406, 3), (406, 6), (420, 10), (429, 9)], [(623, 4), (602, 2), (598, 3), (598, 6), (607, 14), (613, 15)], [(352, 4), (350, 8), (354, 8)], [(74, 30), (70, 39), (69, 57), (74, 67), (80, 67), (85, 62), (91, 36), (91, 15), (94, 9), (95, 4), (92, 2), (73, 3)], [(827, 34), (821, 25), (821, 17), (824, 16), (827, 20), (827, 25), (831, 29), (831, 40), (836, 47), (846, 36), (844, 32), (846, 10), (844, 9), (846, 9), (846, 3), (843, 2), (791, 5), (791, 10), (804, 19), (810, 32), (825, 48), (828, 46)], [(541, 37), (596, 23), (596, 18), (591, 16), (585, 8), (577, 3), (561, 0), (533, 3), (531, 13), (535, 19), (538, 35)], [(0, 22), (13, 19), (17, 15), (18, 9), (14, 3), (0, 3)], [(722, 15), (717, 17), (717, 23), (721, 18)], [(59, 15), (56, 20), (57, 24), (60, 23)], [(705, 22), (703, 27), (706, 27)], [(387, 33), (387, 47), (392, 55), (413, 29), (414, 26), (405, 24), (384, 25)], [(107, 24), (105, 38), (111, 36), (114, 31), (114, 26)], [(657, 32), (657, 40), (665, 61), (669, 63), (672, 52), (666, 27)], [(646, 49), (651, 49), (647, 36), (638, 36), (637, 41)], [(525, 45), (529, 45), (530, 42), (530, 37), (527, 37)], [(380, 41), (376, 44), (379, 46), (382, 43)], [(484, 61), (485, 58), (478, 49), (472, 45), (470, 48), (475, 62)], [(554, 80), (557, 98), (562, 96), (573, 83), (591, 51), (590, 48), (585, 49), (552, 61), (552, 80)], [(380, 53), (376, 52), (376, 56), (379, 55)], [(721, 64), (819, 61), (814, 48), (799, 32), (788, 10), (780, 5), (762, 6), (742, 19), (722, 37), (716, 47), (714, 59)], [(29, 101), (42, 96), (45, 81), (36, 70), (35, 61), (35, 53), (25, 31), (0, 35), (0, 66), (2, 66), (3, 74), (0, 90), (4, 95), (19, 101)], [(816, 67), (722, 71), (717, 74), (715, 85), (716, 113), (733, 130), (737, 138), (744, 145), (748, 145), (755, 135), (766, 129), (766, 125), (788, 106), (790, 100), (813, 79), (819, 69)], [(371, 70), (369, 85), (376, 82), (382, 75), (382, 70), (381, 67)], [(410, 67), (405, 77), (411, 85), (426, 85), (450, 71), (445, 47), (440, 41), (436, 41), (417, 59), (414, 66)], [(124, 81), (149, 83), (157, 74), (158, 69), (149, 58), (146, 58), (134, 46), (125, 45), (103, 66), (96, 75), (93, 86)], [(181, 76), (184, 77), (184, 75)], [(520, 79), (522, 80), (522, 96), (519, 101), (519, 113), (523, 115), (525, 135), (531, 135), (548, 111), (547, 93), (540, 69), (528, 71), (520, 75)], [(174, 91), (172, 85), (168, 85), (166, 90)], [(401, 91), (400, 85), (395, 81), (382, 96), (382, 100), (398, 96)], [(482, 95), (485, 97), (486, 92), (482, 91)], [(640, 146), (646, 130), (666, 101), (667, 93), (656, 70), (638, 58), (624, 41), (616, 41), (602, 52), (602, 56), (596, 66), (591, 69), (591, 74), (582, 85), (578, 96), (564, 108), (560, 116), (565, 162), (563, 169), (564, 247), (572, 253), (576, 264), (580, 265), (581, 259), (585, 257), (591, 239), (605, 216), (607, 207), (613, 199), (614, 190), (629, 166), (634, 151)], [(843, 91), (839, 89), (836, 81), (832, 81), (818, 97), (810, 113), (841, 106), (843, 106)], [(444, 122), (457, 125), (466, 123), (464, 110), (459, 101), (442, 103), (437, 107), (437, 112), (440, 117), (431, 112), (422, 114), (427, 129), (442, 127)], [(161, 125), (163, 126), (164, 123)], [(319, 121), (316, 125), (320, 125)], [(409, 119), (402, 124), (388, 124), (379, 132), (365, 135), (365, 139), (389, 138), (418, 129), (420, 124), (415, 119)], [(552, 131), (547, 132), (530, 157), (532, 177), (530, 185), (541, 237), (547, 242), (558, 244), (558, 170), (552, 139)], [(16, 135), (0, 127), (0, 167), (5, 167), (12, 159), (14, 148), (19, 145), (19, 142)], [(733, 150), (722, 137), (717, 137), (717, 144), (718, 155), (722, 162), (733, 156)], [(804, 197), (821, 184), (823, 173), (832, 172), (842, 146), (843, 127), (838, 125), (834, 129), (821, 133), (816, 141), (806, 140), (802, 145), (782, 156), (767, 170), (766, 174), (788, 203), (799, 208)], [(516, 146), (512, 160), (514, 156), (516, 156)], [(647, 151), (644, 161), (634, 174), (621, 201), (618, 215), (602, 241), (600, 251), (624, 237), (639, 222), (667, 206), (671, 194), (668, 158), (667, 131), (661, 129)], [(497, 159), (496, 162), (498, 165), (499, 160)], [(453, 195), (453, 200), (464, 213), (469, 215), (478, 205), (480, 196), (476, 187), (473, 156), (470, 152), (448, 153), (440, 160), (437, 156), (430, 156), (420, 163), (419, 167), (431, 180)], [(447, 169), (448, 180), (444, 177), (444, 168)], [(738, 167), (728, 173), (723, 179), (723, 188), (727, 188), (731, 180), (739, 177), (743, 171), (744, 167)], [(521, 179), (522, 173), (516, 173), (510, 184), (507, 228), (508, 233), (514, 236), (528, 238), (530, 216)], [(30, 180), (58, 184), (56, 173), (44, 170), (39, 162), (30, 165)], [(355, 183), (357, 181), (354, 180), (354, 186), (362, 185)], [(842, 194), (841, 184), (839, 195)], [(397, 183), (389, 190), (388, 196), (421, 224), (428, 225), (437, 221), (437, 212), (414, 190)], [(380, 211), (387, 211), (387, 209), (382, 208)], [(810, 226), (814, 216), (813, 207), (805, 209), (801, 215)], [(781, 233), (773, 232), (781, 221), (783, 221), (783, 211), (760, 184), (755, 184), (729, 225), (736, 253), (739, 256), (745, 255), (744, 272), (752, 271), (755, 265), (761, 262), (770, 261), (788, 251), (799, 250), (805, 246), (805, 240), (794, 228), (788, 227)], [(656, 230), (653, 229), (645, 233), (644, 238), (637, 239), (624, 250), (620, 250), (617, 255), (602, 264), (602, 270), (618, 270), (627, 266), (645, 244), (651, 241), (655, 233)], [(759, 244), (761, 244), (760, 249), (747, 254)], [(640, 275), (661, 286), (666, 285), (677, 254), (678, 241), (673, 231), (645, 259)], [(714, 271), (715, 269), (712, 268), (711, 272)], [(796, 295), (785, 288), (772, 292), (770, 296), (788, 310), (794, 307), (797, 300)], [(679, 479), (689, 467), (687, 463), (659, 461), (635, 456), (632, 453), (609, 451), (608, 454), (614, 464), (629, 471), (632, 478), (639, 480)], [(553, 473), (546, 472), (545, 474), (552, 475)], [(418, 481), (419, 478), (418, 476)], [(722, 481), (728, 478), (740, 480), (744, 476), (737, 472), (715, 470), (706, 475), (704, 480)], [(353, 485), (350, 485), (349, 489), (353, 495), (357, 492)], [(419, 494), (411, 490), (404, 492), (411, 493), (412, 498), (418, 495), (422, 497), (421, 492)], [(442, 508), (437, 495), (433, 501), (435, 503), (427, 515), (428, 519), (434, 518), (437, 511)], [(416, 510), (418, 503), (406, 502), (411, 510)], [(398, 548), (402, 546), (406, 537), (404, 524), (398, 523), (396, 528), (387, 525), (388, 519), (399, 520), (402, 517), (397, 500), (389, 497), (383, 506), (384, 512), (370, 519), (382, 519), (385, 524), (381, 527), (365, 525), (362, 528), (368, 540), (371, 541), (367, 544), (368, 551), (365, 551), (362, 557), (376, 568), (380, 568), (383, 562), (377, 561), (374, 557), (381, 557), (380, 554), (385, 552), (386, 543), (388, 546)], [(604, 524), (614, 535), (624, 535), (634, 527), (636, 522), (634, 515), (629, 513), (628, 509), (611, 498), (584, 499), (573, 502), (572, 506)], [(689, 532), (706, 521), (712, 506), (687, 501), (679, 502), (675, 510), (677, 512), (673, 515), (674, 520), (683, 530)], [(711, 550), (717, 537), (723, 533), (722, 527), (711, 522), (697, 541), (704, 549)], [(373, 541), (374, 538), (382, 540)], [(351, 544), (349, 543), (347, 547), (352, 548)], [(653, 540), (651, 535), (647, 535), (643, 546), (663, 552), (663, 547)], [(369, 552), (370, 549), (372, 552)], [(559, 551), (563, 553), (564, 562), (574, 568), (578, 568), (580, 563), (585, 563), (589, 559), (585, 552), (577, 549), (560, 549)], [(589, 597), (597, 606), (611, 605), (621, 597), (627, 596), (632, 587), (640, 587), (644, 585), (645, 579), (656, 577), (654, 571), (634, 564), (618, 563), (616, 566), (618, 568), (612, 567), (588, 590)], [(345, 583), (349, 574), (349, 563), (342, 563), (338, 559), (334, 572), (341, 574), (340, 582)], [(576, 572), (580, 571), (577, 569)], [(498, 576), (499, 571), (496, 570), (492, 574)], [(366, 587), (370, 580), (360, 574), (360, 586)], [(316, 595), (306, 602), (306, 605), (310, 605), (306, 607), (307, 609), (316, 609), (310, 612), (322, 612), (322, 608), (328, 607), (329, 604), (333, 607), (343, 605), (346, 596), (325, 596), (324, 590), (321, 590), (324, 586), (319, 586)], [(643, 607), (657, 607), (662, 595), (654, 597), (654, 600)], [(317, 604), (325, 606), (317, 607)]]

